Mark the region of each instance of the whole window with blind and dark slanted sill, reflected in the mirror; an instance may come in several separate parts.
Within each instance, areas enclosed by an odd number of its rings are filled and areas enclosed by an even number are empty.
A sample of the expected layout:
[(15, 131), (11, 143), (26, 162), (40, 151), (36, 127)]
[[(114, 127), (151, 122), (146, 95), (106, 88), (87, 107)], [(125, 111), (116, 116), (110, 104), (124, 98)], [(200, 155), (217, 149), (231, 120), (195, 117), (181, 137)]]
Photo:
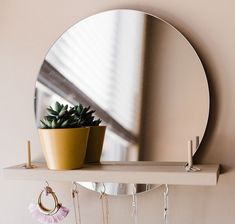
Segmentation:
[[(130, 13), (127, 18), (120, 11), (101, 13), (95, 20), (83, 20), (66, 31), (46, 56), (44, 64), (50, 69), (40, 71), (44, 81), (39, 77), (37, 82), (38, 125), (45, 108), (56, 100), (85, 103), (109, 127), (102, 160), (137, 160), (144, 34), (143, 14)], [(54, 73), (60, 76), (53, 77)], [(61, 79), (60, 86), (48, 86), (48, 77)], [(68, 83), (78, 91), (64, 87)]]

